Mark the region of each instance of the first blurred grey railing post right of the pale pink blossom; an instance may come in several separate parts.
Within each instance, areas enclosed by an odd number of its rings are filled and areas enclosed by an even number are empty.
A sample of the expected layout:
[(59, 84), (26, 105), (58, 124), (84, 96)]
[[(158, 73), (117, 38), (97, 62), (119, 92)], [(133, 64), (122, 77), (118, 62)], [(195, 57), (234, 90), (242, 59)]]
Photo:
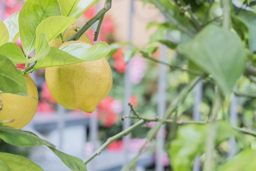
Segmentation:
[[(161, 46), (161, 55), (160, 61), (166, 61), (166, 54), (167, 54), (167, 47), (165, 45)], [(159, 64), (159, 78), (158, 78), (158, 106), (157, 106), (157, 113), (159, 117), (163, 117), (165, 109), (166, 109), (166, 101), (165, 101), (165, 94), (166, 94), (166, 71), (167, 66), (163, 64)], [(164, 130), (165, 125), (162, 125), (160, 130), (158, 131), (157, 141), (156, 141), (156, 171), (164, 171), (164, 167), (162, 164), (163, 159), (163, 146), (164, 146)]]

